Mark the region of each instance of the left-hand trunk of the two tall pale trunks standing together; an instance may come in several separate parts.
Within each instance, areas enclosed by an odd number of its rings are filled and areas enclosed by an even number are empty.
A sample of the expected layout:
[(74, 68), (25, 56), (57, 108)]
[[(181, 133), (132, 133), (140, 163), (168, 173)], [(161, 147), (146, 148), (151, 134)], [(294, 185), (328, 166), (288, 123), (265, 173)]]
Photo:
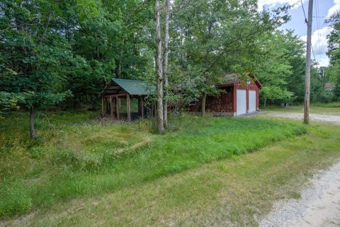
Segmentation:
[(162, 69), (162, 41), (161, 41), (161, 26), (159, 18), (159, 0), (155, 3), (155, 18), (156, 18), (156, 74), (157, 74), (157, 119), (158, 132), (164, 133), (164, 119), (163, 119), (163, 69)]

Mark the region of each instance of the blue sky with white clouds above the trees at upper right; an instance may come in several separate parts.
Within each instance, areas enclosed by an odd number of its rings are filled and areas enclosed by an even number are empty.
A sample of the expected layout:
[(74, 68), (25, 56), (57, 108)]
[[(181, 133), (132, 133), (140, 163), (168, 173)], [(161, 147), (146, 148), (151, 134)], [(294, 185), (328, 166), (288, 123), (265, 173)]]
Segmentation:
[[(308, 0), (301, 0), (305, 8), (307, 17)], [(307, 25), (305, 23), (305, 15), (303, 13), (300, 0), (259, 0), (259, 10), (265, 8), (276, 8), (284, 4), (294, 5), (290, 9), (289, 14), (291, 20), (283, 25), (283, 29), (294, 30), (302, 40), (307, 40)], [(340, 10), (340, 0), (314, 0), (313, 21), (312, 21), (312, 47), (315, 59), (320, 66), (327, 66), (329, 59), (327, 52), (327, 35), (331, 32), (331, 28), (324, 23), (324, 20), (331, 16), (335, 11)], [(317, 16), (317, 17), (316, 17)], [(312, 54), (312, 59), (314, 56)]]

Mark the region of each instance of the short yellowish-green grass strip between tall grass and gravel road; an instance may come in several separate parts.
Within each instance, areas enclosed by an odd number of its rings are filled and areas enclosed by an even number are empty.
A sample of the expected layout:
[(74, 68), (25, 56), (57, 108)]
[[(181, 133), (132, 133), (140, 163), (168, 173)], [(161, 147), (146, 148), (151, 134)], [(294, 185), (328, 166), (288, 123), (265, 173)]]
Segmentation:
[(340, 158), (339, 127), (176, 175), (88, 195), (3, 222), (8, 226), (257, 226), (278, 199), (299, 198), (319, 169)]

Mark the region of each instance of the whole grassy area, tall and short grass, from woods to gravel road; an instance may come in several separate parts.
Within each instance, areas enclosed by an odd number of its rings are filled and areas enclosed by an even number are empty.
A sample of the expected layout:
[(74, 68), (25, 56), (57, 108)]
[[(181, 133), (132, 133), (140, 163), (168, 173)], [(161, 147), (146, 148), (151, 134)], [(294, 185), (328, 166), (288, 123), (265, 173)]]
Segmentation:
[(0, 226), (256, 226), (340, 157), (331, 125), (181, 115), (161, 136), (97, 116), (40, 113), (36, 141), (27, 113), (1, 119)]

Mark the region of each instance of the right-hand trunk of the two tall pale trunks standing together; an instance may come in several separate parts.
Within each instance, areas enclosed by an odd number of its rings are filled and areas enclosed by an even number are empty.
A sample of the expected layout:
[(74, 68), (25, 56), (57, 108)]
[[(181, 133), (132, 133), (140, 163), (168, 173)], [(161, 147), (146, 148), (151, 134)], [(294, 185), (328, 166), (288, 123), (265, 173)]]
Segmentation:
[(164, 58), (163, 58), (163, 77), (164, 77), (164, 127), (168, 127), (168, 95), (169, 95), (169, 80), (168, 80), (168, 55), (169, 55), (169, 12), (170, 0), (166, 0), (165, 18), (164, 18)]

